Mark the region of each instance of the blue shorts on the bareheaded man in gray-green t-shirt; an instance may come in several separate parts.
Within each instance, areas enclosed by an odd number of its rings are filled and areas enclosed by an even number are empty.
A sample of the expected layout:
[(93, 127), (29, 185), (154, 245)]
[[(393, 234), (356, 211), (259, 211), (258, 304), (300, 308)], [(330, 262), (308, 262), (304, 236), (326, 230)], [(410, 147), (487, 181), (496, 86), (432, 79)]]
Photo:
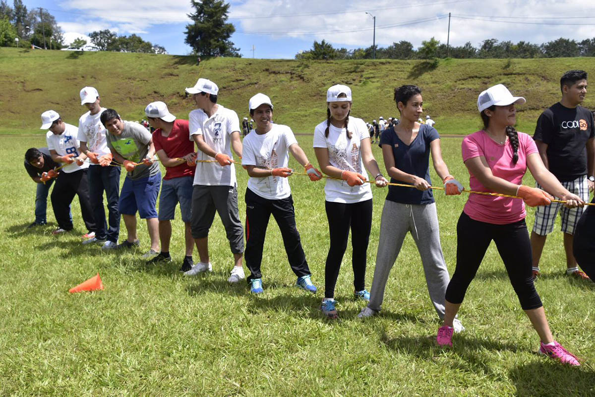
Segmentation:
[(126, 177), (120, 190), (118, 211), (124, 215), (136, 215), (136, 211), (139, 211), (141, 219), (156, 218), (155, 204), (160, 186), (161, 171), (141, 179)]

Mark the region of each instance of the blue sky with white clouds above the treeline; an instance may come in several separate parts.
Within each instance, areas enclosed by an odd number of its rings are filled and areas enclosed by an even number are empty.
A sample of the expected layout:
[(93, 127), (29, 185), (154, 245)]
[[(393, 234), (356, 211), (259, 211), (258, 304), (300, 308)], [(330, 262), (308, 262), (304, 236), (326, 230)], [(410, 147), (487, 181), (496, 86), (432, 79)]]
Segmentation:
[[(110, 29), (120, 35), (136, 33), (159, 44), (170, 54), (190, 52), (184, 30), (192, 12), (189, 0), (30, 0), (27, 8), (46, 8), (65, 33), (65, 42), (94, 30)], [(388, 46), (407, 40), (415, 47), (434, 36), (447, 39), (447, 14), (452, 12), (450, 43), (478, 46), (488, 38), (542, 43), (558, 37), (582, 40), (595, 36), (595, 4), (587, 0), (483, 2), (427, 0), (373, 3), (343, 0), (237, 0), (230, 1), (231, 37), (243, 57), (293, 58), (314, 40), (326, 40), (348, 49), (372, 44), (376, 17), (376, 43)], [(511, 21), (513, 23), (511, 23)]]

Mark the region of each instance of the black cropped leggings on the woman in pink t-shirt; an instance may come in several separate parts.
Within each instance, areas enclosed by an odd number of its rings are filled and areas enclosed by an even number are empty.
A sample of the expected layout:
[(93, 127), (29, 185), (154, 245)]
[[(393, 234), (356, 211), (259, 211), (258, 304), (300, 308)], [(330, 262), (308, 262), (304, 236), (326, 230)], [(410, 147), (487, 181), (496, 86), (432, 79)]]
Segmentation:
[(498, 225), (472, 220), (463, 212), (456, 225), (456, 237), (456, 268), (446, 289), (447, 301), (453, 304), (463, 301), (467, 287), (494, 240), (522, 309), (543, 306), (533, 285), (531, 242), (525, 220)]

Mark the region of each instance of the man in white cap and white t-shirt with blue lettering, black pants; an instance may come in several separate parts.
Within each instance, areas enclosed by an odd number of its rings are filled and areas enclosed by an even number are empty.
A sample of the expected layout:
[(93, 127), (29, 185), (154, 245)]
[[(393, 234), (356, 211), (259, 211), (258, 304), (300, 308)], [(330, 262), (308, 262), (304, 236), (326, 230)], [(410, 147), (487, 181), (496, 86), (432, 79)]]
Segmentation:
[(86, 155), (79, 152), (80, 145), (77, 139), (79, 130), (72, 124), (64, 123), (60, 115), (53, 110), (43, 112), (41, 120), (41, 129), (49, 129), (45, 136), (49, 154), (52, 160), (62, 164), (51, 195), (54, 215), (58, 222), (58, 228), (52, 233), (58, 235), (73, 230), (70, 203), (74, 195), (77, 195), (84, 224), (89, 230), (83, 238), (91, 239), (95, 237), (95, 219), (89, 202), (87, 180), (89, 163), (84, 162)]

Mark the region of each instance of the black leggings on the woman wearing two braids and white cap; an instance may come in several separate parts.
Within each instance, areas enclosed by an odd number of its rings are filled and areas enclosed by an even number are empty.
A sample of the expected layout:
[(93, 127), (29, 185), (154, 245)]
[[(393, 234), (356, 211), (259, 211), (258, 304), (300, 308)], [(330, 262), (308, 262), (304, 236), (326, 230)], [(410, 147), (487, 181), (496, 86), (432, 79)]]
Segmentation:
[(352, 204), (325, 201), (330, 248), (324, 268), (324, 297), (333, 298), (351, 229), (353, 287), (365, 289), (366, 252), (372, 228), (372, 199)]

